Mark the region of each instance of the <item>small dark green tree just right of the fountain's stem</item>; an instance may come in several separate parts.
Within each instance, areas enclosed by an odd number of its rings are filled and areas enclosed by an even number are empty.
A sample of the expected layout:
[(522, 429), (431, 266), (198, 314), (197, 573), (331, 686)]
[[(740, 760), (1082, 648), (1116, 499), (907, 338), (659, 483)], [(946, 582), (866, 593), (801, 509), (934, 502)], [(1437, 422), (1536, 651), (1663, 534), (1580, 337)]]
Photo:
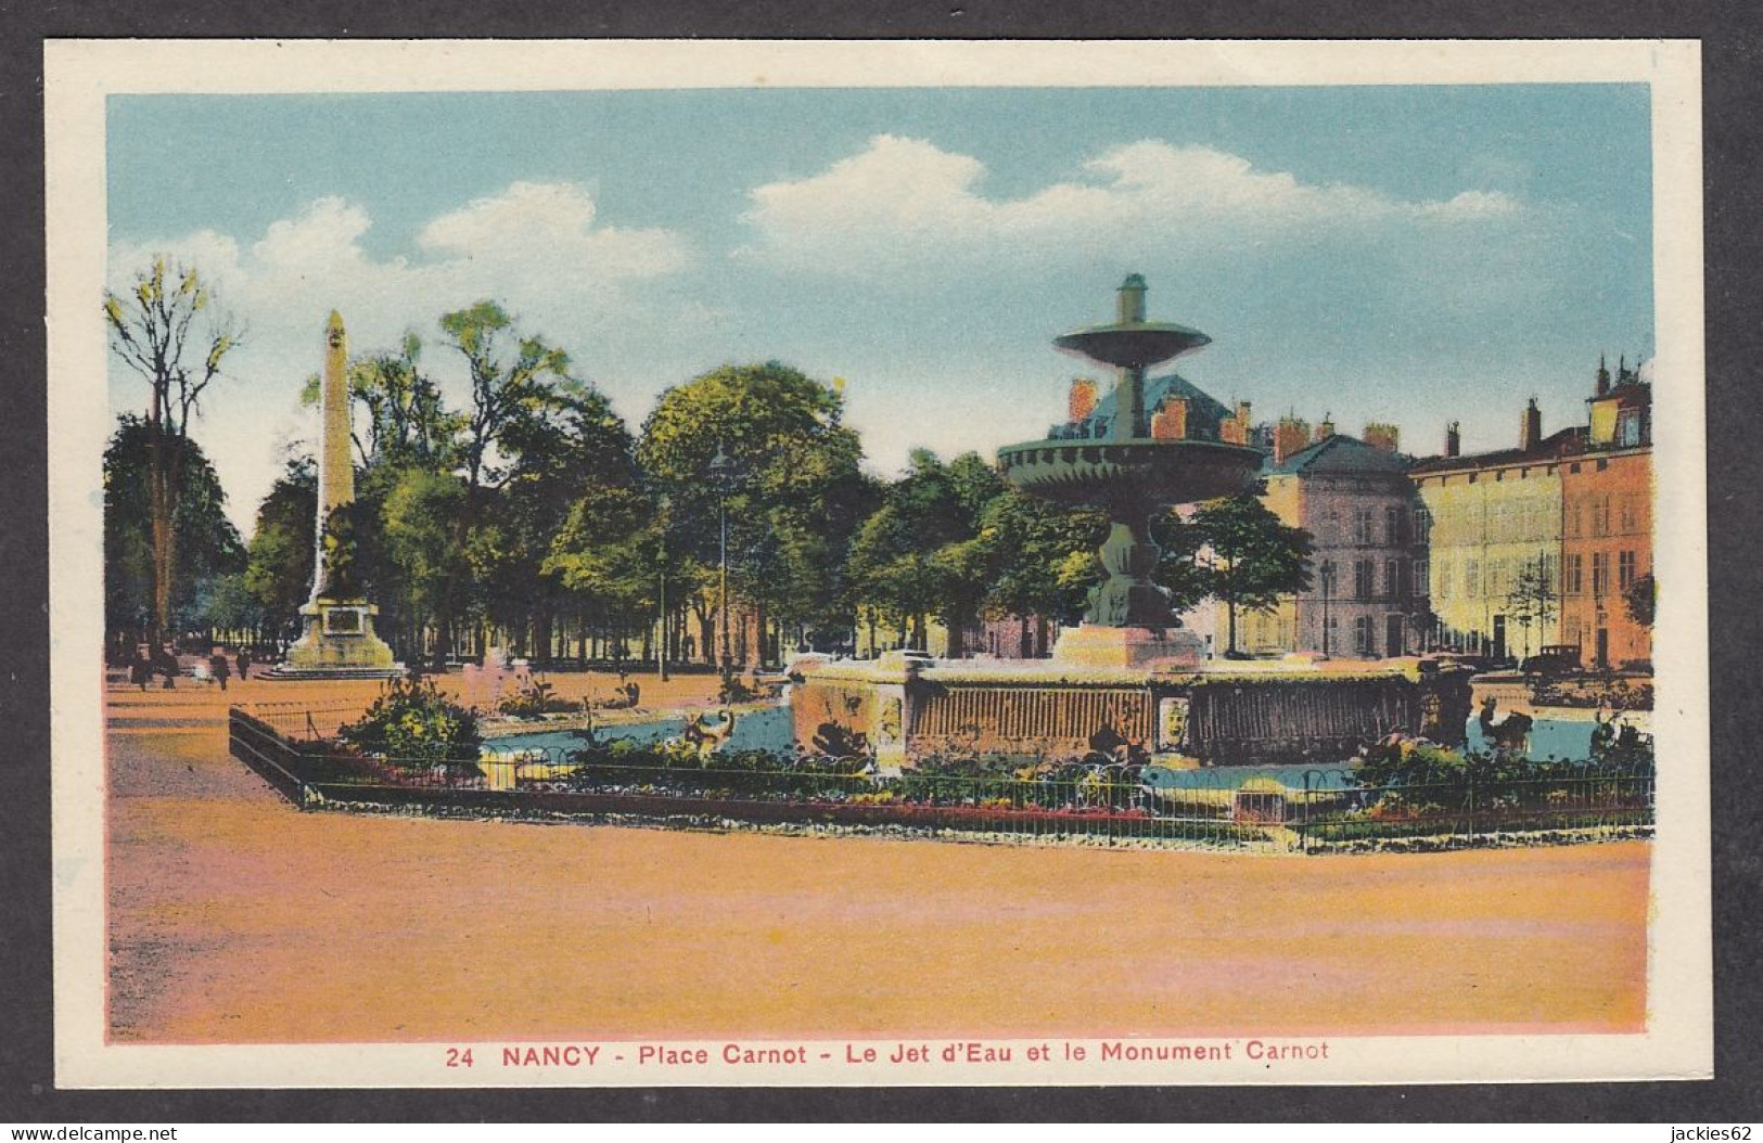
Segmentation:
[(1188, 549), (1209, 549), (1208, 564), (1197, 564), (1195, 571), (1208, 585), (1208, 594), (1225, 606), (1225, 655), (1239, 653), (1239, 609), (1266, 611), (1282, 595), (1310, 590), (1310, 534), (1282, 523), (1259, 497), (1208, 500), (1194, 513), (1186, 528)]

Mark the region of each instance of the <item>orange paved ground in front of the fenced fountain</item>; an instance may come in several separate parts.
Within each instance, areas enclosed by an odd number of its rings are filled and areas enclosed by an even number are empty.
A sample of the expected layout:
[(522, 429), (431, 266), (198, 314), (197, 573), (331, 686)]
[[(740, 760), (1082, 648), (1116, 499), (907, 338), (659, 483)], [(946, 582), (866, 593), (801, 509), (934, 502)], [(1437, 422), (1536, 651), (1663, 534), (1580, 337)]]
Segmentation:
[(1643, 1021), (1645, 842), (1268, 858), (298, 814), (222, 715), (309, 694), (372, 687), (111, 687), (115, 1039)]

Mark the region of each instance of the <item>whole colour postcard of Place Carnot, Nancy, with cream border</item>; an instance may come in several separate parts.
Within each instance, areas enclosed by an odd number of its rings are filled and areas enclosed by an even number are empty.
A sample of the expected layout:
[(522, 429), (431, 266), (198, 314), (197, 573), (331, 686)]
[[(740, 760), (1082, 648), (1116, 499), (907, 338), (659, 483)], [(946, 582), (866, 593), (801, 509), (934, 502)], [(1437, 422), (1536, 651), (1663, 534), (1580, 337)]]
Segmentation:
[(44, 65), (58, 1085), (1710, 1074), (1698, 44)]

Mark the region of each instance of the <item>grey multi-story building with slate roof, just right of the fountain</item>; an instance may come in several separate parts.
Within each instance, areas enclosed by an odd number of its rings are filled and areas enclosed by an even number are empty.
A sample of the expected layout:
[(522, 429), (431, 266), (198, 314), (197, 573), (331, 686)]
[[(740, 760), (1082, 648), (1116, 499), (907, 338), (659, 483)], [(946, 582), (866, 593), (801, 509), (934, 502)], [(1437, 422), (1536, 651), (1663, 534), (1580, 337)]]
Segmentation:
[(1428, 616), (1426, 518), (1396, 430), (1368, 424), (1361, 440), (1324, 419), (1303, 444), (1306, 430), (1296, 417), (1275, 426), (1262, 472), (1266, 505), (1312, 535), (1310, 590), (1239, 616), (1245, 646), (1338, 659), (1419, 652)]

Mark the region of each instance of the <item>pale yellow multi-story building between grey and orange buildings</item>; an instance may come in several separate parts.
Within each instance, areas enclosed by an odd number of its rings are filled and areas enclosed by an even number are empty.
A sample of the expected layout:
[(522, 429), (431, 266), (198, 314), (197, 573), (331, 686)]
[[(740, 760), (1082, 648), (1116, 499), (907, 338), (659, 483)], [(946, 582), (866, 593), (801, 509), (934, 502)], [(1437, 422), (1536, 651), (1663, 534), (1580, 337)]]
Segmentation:
[(1532, 398), (1516, 449), (1463, 456), (1453, 423), (1444, 456), (1410, 468), (1440, 646), (1504, 659), (1560, 643), (1562, 463), (1583, 442), (1583, 428), (1544, 437)]

